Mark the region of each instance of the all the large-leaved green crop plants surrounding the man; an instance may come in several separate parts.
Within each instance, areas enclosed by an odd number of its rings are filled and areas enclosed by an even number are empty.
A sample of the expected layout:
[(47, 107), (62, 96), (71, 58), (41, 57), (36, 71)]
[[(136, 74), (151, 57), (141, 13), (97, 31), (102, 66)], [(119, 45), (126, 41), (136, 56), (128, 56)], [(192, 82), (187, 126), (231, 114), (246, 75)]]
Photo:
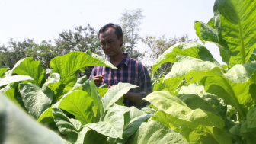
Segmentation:
[(97, 88), (78, 78), (87, 66), (116, 69), (90, 51), (57, 56), (51, 72), (33, 58), (0, 69), (2, 93), (43, 124), (0, 96), (0, 142), (20, 136), (24, 143), (255, 143), (256, 2), (216, 0), (213, 10), (194, 29), (202, 43), (219, 47), (226, 65), (200, 43), (171, 46), (152, 66), (155, 73), (171, 62), (171, 72), (154, 83), (141, 110), (123, 106), (123, 94), (136, 85)]

